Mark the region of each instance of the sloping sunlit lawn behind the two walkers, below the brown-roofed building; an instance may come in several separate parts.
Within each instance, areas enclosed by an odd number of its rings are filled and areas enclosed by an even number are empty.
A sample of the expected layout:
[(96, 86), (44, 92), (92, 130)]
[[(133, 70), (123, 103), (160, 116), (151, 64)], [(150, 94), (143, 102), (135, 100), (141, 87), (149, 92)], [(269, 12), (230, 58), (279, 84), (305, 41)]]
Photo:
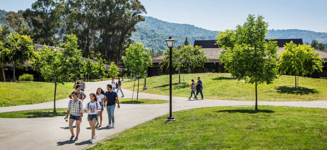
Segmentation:
[[(255, 100), (255, 85), (246, 84), (244, 80), (237, 81), (229, 73), (198, 73), (184, 74), (185, 83), (177, 84), (178, 74), (173, 75), (173, 96), (188, 98), (191, 89), (188, 83), (191, 79), (197, 81), (200, 76), (203, 81), (203, 95), (205, 99), (219, 100)], [(315, 101), (327, 100), (327, 80), (299, 77), (301, 88), (295, 89), (294, 76), (280, 76), (273, 84), (258, 85), (259, 101)], [(181, 82), (183, 77), (181, 75)], [(122, 87), (133, 90), (134, 80), (124, 81)], [(135, 83), (137, 91), (137, 81)], [(140, 80), (142, 91), (144, 79)], [(169, 95), (169, 75), (146, 78), (147, 90), (150, 94)], [(199, 95), (200, 97), (200, 95)]]

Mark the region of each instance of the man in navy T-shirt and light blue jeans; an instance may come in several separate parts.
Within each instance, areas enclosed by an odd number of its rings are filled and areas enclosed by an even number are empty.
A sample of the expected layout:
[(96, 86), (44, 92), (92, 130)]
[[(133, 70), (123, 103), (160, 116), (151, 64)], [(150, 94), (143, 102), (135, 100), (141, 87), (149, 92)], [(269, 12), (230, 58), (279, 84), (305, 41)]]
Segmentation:
[[(114, 118), (114, 111), (115, 111), (115, 107), (116, 107), (116, 101), (117, 101), (117, 108), (119, 109), (119, 100), (118, 100), (118, 96), (117, 93), (112, 90), (112, 84), (108, 84), (107, 85), (107, 90), (105, 95), (104, 95), (104, 107), (107, 107), (107, 113), (108, 113), (108, 120), (109, 120), (109, 124), (107, 125), (107, 127), (115, 127), (115, 118)], [(107, 106), (106, 106), (107, 105)], [(112, 124), (111, 124), (112, 123)]]

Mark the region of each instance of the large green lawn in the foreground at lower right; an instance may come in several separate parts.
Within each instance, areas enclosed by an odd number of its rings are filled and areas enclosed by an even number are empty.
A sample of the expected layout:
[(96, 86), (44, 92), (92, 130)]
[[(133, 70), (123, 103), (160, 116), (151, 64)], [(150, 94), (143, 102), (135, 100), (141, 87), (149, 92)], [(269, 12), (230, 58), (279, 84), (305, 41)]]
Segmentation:
[(174, 112), (91, 147), (102, 149), (327, 149), (325, 109), (259, 106)]

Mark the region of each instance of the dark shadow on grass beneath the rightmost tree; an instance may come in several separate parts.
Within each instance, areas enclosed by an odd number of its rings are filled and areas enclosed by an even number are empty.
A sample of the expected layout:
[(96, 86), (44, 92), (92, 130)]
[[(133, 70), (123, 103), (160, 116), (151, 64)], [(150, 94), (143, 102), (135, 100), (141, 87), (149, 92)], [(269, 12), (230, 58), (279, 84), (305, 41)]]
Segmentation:
[(278, 86), (275, 88), (278, 93), (286, 93), (286, 94), (296, 94), (296, 95), (308, 95), (318, 93), (316, 89), (310, 89), (306, 87), (289, 87), (289, 86)]

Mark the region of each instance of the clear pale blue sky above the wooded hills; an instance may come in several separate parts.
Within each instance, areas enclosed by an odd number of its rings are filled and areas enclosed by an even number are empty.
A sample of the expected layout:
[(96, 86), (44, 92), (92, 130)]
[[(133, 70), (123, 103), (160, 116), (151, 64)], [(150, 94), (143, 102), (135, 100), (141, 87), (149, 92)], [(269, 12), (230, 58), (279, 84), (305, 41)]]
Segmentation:
[[(33, 2), (35, 0), (0, 0), (0, 9), (25, 10)], [(243, 24), (249, 14), (260, 14), (269, 23), (268, 29), (327, 32), (327, 1), (324, 0), (140, 0), (140, 2), (147, 11), (143, 15), (214, 31), (233, 29), (237, 24)]]

